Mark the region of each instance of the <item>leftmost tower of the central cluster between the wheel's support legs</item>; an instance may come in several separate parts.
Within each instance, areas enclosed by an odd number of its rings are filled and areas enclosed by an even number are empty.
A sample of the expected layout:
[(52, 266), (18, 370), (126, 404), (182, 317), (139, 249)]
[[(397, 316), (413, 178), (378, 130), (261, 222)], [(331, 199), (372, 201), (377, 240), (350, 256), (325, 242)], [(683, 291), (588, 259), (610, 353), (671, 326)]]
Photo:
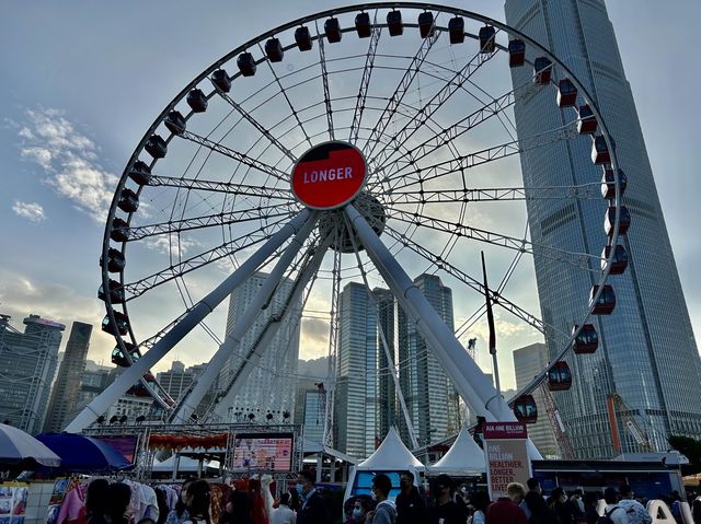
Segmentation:
[(334, 446), (365, 458), (378, 433), (377, 310), (367, 288), (349, 282), (338, 298)]

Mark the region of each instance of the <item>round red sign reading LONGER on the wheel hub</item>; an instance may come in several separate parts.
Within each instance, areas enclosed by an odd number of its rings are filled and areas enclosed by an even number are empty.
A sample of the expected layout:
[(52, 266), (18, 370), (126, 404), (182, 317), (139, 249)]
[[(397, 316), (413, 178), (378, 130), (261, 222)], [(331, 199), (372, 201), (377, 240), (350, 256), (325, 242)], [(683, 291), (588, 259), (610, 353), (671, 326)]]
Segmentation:
[(345, 142), (324, 142), (307, 151), (292, 170), (292, 193), (306, 206), (334, 209), (360, 191), (367, 174), (360, 151)]

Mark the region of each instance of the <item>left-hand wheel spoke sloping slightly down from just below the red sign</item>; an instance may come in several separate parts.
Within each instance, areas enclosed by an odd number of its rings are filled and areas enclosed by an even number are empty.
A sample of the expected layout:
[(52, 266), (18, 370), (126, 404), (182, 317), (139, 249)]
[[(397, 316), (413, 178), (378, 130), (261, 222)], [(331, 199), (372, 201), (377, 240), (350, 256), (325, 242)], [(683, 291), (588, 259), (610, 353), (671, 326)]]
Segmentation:
[[(202, 217), (191, 217), (182, 220), (169, 220), (157, 224), (139, 225), (136, 228), (127, 228), (125, 233), (129, 241), (137, 241), (150, 236), (168, 235), (182, 233), (183, 231), (193, 231), (204, 228), (218, 225), (232, 225), (243, 222), (257, 222), (261, 220), (279, 219), (280, 217), (291, 217), (296, 209), (295, 203), (279, 205), (272, 203), (269, 206), (257, 206), (237, 211), (228, 211), (215, 214), (205, 214)], [(287, 208), (287, 211), (280, 209)]]

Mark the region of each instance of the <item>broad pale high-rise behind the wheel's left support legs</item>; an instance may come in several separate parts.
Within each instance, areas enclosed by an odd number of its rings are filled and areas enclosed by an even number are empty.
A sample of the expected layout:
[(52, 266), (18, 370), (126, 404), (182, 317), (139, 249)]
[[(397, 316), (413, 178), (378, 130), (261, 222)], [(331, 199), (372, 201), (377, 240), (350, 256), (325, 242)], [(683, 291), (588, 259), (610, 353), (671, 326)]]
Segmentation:
[[(227, 335), (233, 329), (237, 319), (253, 302), (258, 289), (265, 282), (266, 273), (257, 272), (237, 288), (229, 299)], [(258, 315), (253, 326), (241, 338), (241, 343), (229, 357), (219, 373), (219, 387), (227, 388), (237, 373), (241, 362), (258, 338), (263, 328), (273, 315), (283, 312), (294, 282), (289, 279), (280, 281), (271, 304)], [(289, 322), (284, 323), (271, 343), (264, 349), (263, 357), (243, 383), (239, 384), (239, 393), (229, 403), (229, 418), (233, 420), (237, 412), (252, 412), (262, 418), (267, 411), (283, 412), (295, 409), (295, 388), (297, 386), (297, 360), (299, 358), (299, 327), (301, 303), (292, 304), (294, 311)]]

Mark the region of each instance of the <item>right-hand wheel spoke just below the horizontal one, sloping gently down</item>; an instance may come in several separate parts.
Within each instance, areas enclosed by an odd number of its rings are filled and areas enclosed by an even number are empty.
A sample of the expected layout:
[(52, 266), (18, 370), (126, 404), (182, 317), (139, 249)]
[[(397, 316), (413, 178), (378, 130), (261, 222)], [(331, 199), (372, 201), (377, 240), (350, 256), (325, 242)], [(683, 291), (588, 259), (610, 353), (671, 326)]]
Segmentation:
[[(389, 210), (389, 209), (388, 209)], [(535, 257), (551, 258), (561, 263), (570, 264), (574, 267), (599, 273), (601, 271), (601, 257), (586, 253), (572, 253), (543, 244), (532, 243), (525, 238), (503, 235), (487, 230), (471, 228), (461, 222), (449, 222), (447, 220), (428, 217), (425, 213), (411, 213), (398, 209), (392, 209), (391, 218), (404, 223), (413, 223), (420, 228), (429, 229), (451, 235), (451, 237), (463, 237), (478, 242), (484, 242), (498, 247), (528, 253)], [(455, 235), (455, 236), (453, 236)], [(591, 267), (595, 266), (595, 267)]]

